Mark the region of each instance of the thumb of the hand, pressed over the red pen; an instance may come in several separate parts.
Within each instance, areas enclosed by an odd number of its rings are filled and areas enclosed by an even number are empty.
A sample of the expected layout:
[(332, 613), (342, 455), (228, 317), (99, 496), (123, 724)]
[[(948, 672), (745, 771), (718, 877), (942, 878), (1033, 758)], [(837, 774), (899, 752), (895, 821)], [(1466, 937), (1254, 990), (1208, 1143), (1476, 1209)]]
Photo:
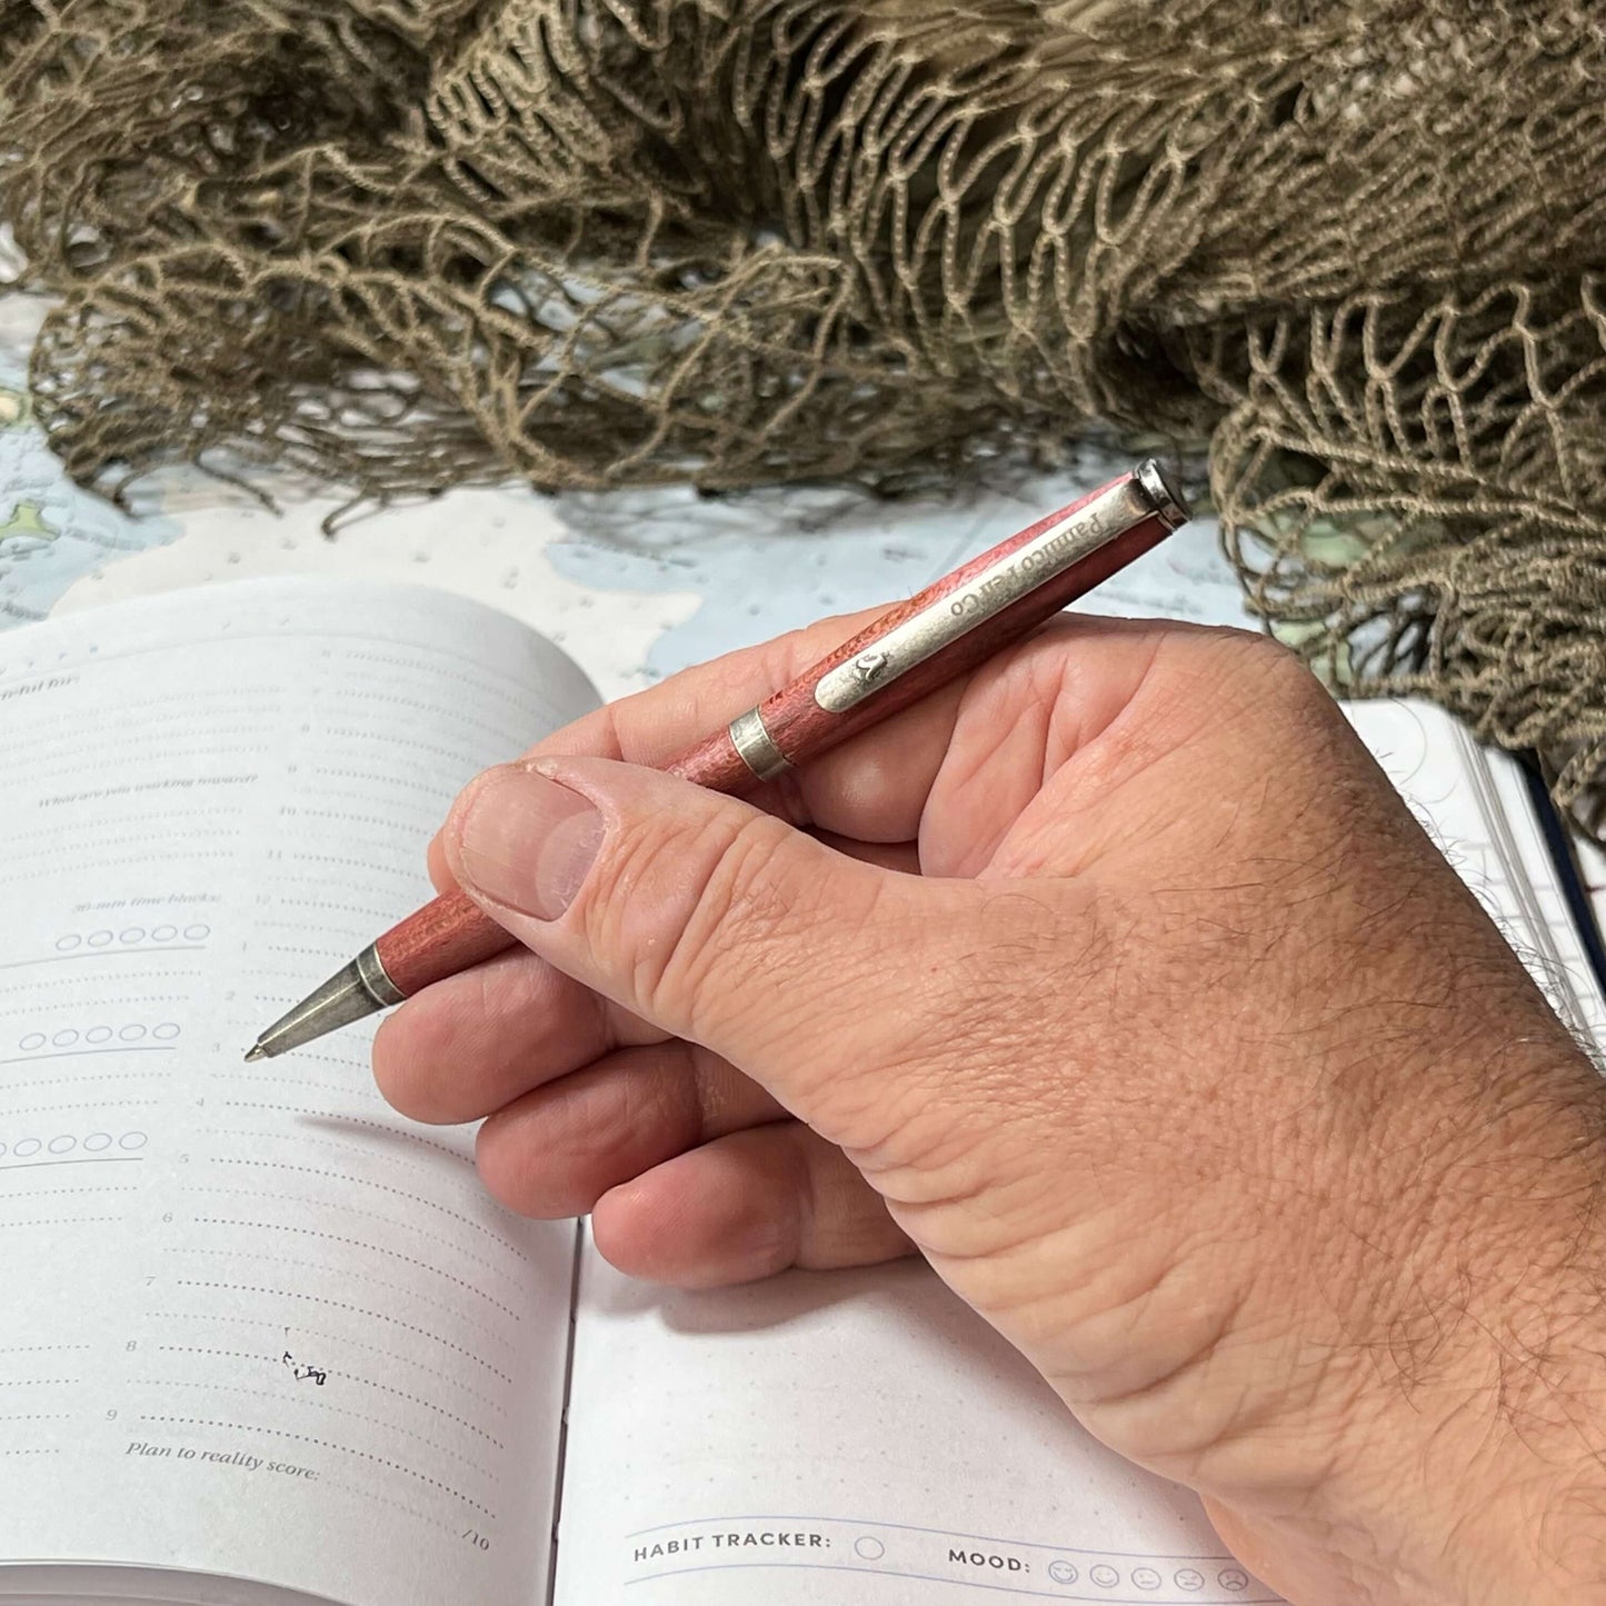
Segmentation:
[(965, 885), (861, 864), (737, 798), (601, 758), (487, 771), (443, 846), (525, 946), (805, 1119), (824, 1074), (887, 1063), (877, 1036), (911, 1012), (911, 975), (931, 975), (922, 933), (948, 923), (941, 890)]

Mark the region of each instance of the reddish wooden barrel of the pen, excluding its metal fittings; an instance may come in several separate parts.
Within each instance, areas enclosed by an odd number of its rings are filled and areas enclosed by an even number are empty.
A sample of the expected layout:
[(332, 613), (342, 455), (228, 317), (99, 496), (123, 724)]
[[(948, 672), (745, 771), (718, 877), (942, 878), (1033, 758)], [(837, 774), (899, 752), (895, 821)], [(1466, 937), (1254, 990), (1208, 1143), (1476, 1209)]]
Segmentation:
[[(1044, 620), (1052, 618), (1068, 602), (1084, 596), (1164, 540), (1180, 522), (1180, 517), (1185, 517), (1180, 512), (1180, 504), (1174, 504), (1176, 512), (1171, 517), (1163, 516), (1158, 509), (1150, 517), (1137, 517), (1087, 556), (1033, 586), (1007, 607), (991, 613), (851, 707), (832, 711), (821, 705), (817, 687), (832, 670), (853, 663), (882, 641), (888, 631), (922, 615), (933, 604), (943, 602), (944, 597), (970, 591), (978, 577), (1002, 559), (1074, 517), (1113, 488), (1131, 483), (1132, 479), (1132, 475), (1126, 475), (1123, 480), (1092, 491), (1081, 501), (1039, 519), (1018, 535), (956, 569), (936, 585), (883, 613), (874, 625), (843, 642), (790, 686), (760, 703), (756, 710), (761, 721), (760, 729), (766, 742), (772, 744), (771, 752), (779, 761), (779, 768), (800, 764), (817, 756), (858, 731), (885, 719), (975, 668), (997, 652), (1004, 642), (1025, 636)], [(763, 784), (752, 763), (737, 750), (729, 729), (710, 734), (662, 768), (711, 792), (739, 795)], [(374, 943), (374, 951), (397, 991), (411, 997), (434, 981), (456, 975), (459, 970), (467, 970), (471, 965), (503, 952), (512, 946), (512, 941), (495, 920), (482, 914), (471, 898), (453, 891), (385, 931)]]

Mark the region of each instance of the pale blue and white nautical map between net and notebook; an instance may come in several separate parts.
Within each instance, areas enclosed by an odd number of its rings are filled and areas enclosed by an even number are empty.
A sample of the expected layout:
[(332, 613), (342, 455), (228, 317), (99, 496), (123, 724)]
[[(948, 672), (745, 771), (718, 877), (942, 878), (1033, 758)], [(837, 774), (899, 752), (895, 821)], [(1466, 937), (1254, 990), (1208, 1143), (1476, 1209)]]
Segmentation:
[[(268, 512), (222, 482), (172, 472), (141, 482), (132, 516), (75, 485), (34, 418), (26, 374), (40, 316), (29, 297), (0, 296), (0, 628), (64, 601), (260, 573), (368, 573), (516, 613), (612, 697), (813, 620), (907, 597), (1139, 454), (1082, 446), (1054, 474), (994, 469), (896, 501), (808, 485), (726, 496), (536, 496), (507, 485), (379, 509), (334, 536), (323, 530), (339, 507), (328, 495), (270, 479)], [(1246, 622), (1211, 519), (1078, 605)]]

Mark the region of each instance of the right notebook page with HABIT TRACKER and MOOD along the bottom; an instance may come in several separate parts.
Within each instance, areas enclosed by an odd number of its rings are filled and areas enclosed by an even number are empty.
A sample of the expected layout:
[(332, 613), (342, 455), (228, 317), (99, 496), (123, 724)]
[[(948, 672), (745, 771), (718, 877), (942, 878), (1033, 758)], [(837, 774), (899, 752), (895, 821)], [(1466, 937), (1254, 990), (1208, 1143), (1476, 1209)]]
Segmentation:
[(1275, 1601), (922, 1264), (715, 1293), (586, 1246), (557, 1606)]

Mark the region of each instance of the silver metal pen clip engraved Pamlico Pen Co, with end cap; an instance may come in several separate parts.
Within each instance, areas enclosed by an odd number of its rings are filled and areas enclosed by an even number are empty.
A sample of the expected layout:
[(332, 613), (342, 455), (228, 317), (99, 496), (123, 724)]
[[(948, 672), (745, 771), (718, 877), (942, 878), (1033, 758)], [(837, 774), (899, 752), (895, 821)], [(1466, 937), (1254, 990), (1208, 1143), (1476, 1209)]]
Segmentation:
[(1135, 474), (1118, 480), (1103, 495), (1004, 552), (919, 613), (901, 620), (885, 636), (864, 642), (851, 658), (819, 678), (814, 702), (827, 713), (846, 713), (960, 636), (1063, 575), (1134, 524), (1161, 519), (1176, 528), (1185, 517), (1185, 509), (1166, 485), (1158, 464), (1143, 463)]

